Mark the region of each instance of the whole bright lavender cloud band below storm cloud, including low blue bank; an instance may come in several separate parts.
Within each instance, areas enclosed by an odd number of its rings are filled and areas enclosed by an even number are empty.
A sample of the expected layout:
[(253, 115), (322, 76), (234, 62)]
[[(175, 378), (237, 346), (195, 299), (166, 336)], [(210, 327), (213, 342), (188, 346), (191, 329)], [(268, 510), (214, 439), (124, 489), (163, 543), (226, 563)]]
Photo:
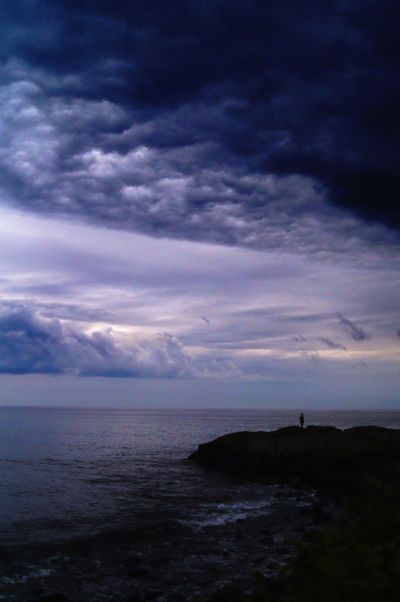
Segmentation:
[(387, 262), (0, 217), (3, 371), (291, 380), (389, 362), (397, 373), (400, 289)]

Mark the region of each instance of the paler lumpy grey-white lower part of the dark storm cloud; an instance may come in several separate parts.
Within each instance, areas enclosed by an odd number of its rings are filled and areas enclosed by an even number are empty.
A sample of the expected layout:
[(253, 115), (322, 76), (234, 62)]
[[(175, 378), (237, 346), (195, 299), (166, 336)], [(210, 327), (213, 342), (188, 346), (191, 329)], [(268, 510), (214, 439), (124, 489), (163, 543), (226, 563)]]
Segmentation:
[(1, 88), (0, 109), (2, 191), (29, 211), (254, 249), (396, 254), (392, 234), (333, 211), (310, 176), (262, 173), (208, 139), (160, 147), (152, 120), (122, 149), (125, 134), (107, 132), (126, 114), (111, 102), (48, 99), (25, 81)]

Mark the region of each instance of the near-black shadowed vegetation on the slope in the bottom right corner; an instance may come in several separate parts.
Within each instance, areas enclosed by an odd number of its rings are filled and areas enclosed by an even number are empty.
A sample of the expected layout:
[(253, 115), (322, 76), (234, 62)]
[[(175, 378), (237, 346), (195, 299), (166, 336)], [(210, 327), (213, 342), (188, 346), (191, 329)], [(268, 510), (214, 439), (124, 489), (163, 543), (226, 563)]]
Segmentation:
[(260, 574), (254, 602), (380, 602), (400, 600), (400, 489), (365, 489), (349, 517), (297, 545), (278, 577)]

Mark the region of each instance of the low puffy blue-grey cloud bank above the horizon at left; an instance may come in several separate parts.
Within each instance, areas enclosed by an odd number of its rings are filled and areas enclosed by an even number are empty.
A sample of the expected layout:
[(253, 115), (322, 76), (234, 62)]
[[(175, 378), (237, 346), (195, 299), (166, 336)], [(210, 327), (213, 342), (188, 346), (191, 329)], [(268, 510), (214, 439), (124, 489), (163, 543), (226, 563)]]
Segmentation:
[(0, 309), (0, 373), (190, 377), (194, 370), (175, 337), (141, 338), (125, 346), (115, 332), (85, 334), (19, 304)]

